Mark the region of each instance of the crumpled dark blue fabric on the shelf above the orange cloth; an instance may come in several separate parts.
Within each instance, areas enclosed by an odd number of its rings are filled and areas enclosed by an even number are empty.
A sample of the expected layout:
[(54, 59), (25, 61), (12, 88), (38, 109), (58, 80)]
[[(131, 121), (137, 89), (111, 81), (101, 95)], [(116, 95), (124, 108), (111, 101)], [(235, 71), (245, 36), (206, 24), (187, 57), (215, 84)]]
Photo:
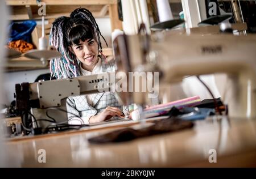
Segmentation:
[(11, 23), (9, 25), (10, 37), (8, 42), (16, 40), (24, 40), (32, 44), (31, 33), (36, 27), (35, 20), (26, 20), (22, 23)]

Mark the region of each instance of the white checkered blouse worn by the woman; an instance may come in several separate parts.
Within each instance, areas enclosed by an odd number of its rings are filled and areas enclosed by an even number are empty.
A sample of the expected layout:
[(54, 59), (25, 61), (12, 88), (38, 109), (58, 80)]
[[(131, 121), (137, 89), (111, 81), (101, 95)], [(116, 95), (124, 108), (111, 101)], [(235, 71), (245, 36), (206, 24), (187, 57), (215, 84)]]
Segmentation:
[[(99, 58), (99, 61), (94, 67), (92, 73), (82, 69), (80, 66), (80, 75), (92, 75), (113, 71), (115, 71), (115, 62), (110, 61), (105, 63), (103, 60), (101, 60), (101, 58)], [(73, 97), (71, 96), (68, 97), (66, 106), (68, 111), (69, 124), (81, 124), (81, 120), (85, 124), (88, 124), (89, 118), (91, 116), (102, 112), (102, 110), (108, 106), (121, 108), (121, 105), (119, 105), (117, 99), (115, 99), (113, 92), (102, 92), (92, 95), (81, 95)], [(80, 118), (71, 113), (80, 116)]]

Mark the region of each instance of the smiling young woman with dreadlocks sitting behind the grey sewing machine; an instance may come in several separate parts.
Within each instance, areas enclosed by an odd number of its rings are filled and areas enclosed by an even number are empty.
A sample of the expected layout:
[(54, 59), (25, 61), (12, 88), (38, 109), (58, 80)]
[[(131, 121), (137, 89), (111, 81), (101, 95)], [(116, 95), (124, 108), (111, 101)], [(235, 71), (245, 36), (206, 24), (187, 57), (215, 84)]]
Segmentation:
[[(71, 12), (70, 17), (57, 18), (52, 24), (50, 44), (63, 56), (51, 60), (51, 74), (61, 79), (114, 71), (114, 61), (104, 61), (100, 36), (95, 19), (85, 8), (77, 8)], [(94, 123), (113, 116), (123, 117), (119, 108), (112, 92), (67, 99), (68, 121), (71, 124), (79, 124), (81, 120), (83, 123)]]

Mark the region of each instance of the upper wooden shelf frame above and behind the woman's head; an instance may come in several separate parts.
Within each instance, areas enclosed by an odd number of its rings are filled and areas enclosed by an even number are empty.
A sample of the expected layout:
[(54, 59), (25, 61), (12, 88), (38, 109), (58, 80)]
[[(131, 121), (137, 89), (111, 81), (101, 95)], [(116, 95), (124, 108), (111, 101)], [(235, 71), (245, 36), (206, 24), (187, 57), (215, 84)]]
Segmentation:
[[(87, 8), (95, 18), (110, 18), (112, 31), (122, 29), (122, 22), (118, 19), (117, 0), (42, 0), (46, 3), (46, 19), (56, 19), (69, 14), (78, 7)], [(6, 0), (11, 8), (9, 20), (40, 19), (39, 6), (36, 0)], [(61, 7), (60, 7), (61, 6)]]

